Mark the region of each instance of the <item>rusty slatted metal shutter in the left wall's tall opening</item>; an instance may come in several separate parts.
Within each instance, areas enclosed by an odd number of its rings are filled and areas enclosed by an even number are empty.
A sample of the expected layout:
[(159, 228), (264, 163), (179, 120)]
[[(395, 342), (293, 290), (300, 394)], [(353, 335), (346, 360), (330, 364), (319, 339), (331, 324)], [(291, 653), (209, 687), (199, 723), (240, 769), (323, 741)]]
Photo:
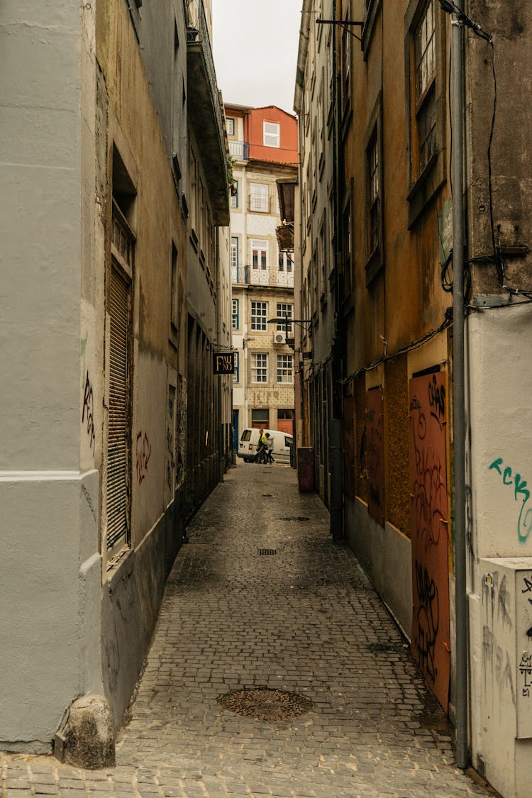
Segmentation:
[(113, 267), (109, 286), (109, 413), (107, 449), (107, 547), (127, 543), (129, 286)]

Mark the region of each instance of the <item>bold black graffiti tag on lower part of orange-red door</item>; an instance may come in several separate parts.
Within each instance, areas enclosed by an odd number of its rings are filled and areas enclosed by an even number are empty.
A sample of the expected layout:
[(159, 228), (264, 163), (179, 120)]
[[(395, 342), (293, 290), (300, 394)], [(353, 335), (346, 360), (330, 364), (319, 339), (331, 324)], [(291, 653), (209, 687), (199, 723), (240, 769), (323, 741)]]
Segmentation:
[(432, 681), (438, 670), (435, 666), (435, 646), (439, 630), (439, 596), (434, 579), (427, 567), (416, 560), (417, 591), (417, 639), (416, 648), (420, 655), (420, 668)]

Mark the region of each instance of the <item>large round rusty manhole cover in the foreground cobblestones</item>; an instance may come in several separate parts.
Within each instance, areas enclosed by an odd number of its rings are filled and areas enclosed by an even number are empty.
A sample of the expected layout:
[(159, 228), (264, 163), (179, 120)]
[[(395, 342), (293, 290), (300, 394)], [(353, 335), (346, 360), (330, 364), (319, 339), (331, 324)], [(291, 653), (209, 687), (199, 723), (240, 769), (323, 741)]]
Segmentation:
[(283, 721), (312, 709), (312, 701), (306, 696), (268, 687), (233, 690), (220, 696), (218, 701), (223, 709), (261, 721)]

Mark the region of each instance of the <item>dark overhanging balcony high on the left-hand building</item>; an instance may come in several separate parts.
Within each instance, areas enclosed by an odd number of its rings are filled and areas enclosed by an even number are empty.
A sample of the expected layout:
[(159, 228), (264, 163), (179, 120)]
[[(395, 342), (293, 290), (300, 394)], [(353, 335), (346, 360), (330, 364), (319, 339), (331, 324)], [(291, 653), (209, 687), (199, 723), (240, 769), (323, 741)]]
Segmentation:
[(215, 224), (229, 225), (229, 179), (225, 128), (203, 0), (189, 6), (187, 27), (187, 111), (201, 146), (201, 158)]

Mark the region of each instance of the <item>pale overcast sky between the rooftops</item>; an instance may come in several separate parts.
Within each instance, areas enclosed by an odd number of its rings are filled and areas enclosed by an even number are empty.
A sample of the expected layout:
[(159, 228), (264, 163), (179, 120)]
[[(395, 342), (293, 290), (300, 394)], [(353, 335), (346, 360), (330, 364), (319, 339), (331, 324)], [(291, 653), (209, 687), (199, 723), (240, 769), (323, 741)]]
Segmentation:
[(212, 0), (213, 50), (223, 101), (294, 113), (303, 0)]

